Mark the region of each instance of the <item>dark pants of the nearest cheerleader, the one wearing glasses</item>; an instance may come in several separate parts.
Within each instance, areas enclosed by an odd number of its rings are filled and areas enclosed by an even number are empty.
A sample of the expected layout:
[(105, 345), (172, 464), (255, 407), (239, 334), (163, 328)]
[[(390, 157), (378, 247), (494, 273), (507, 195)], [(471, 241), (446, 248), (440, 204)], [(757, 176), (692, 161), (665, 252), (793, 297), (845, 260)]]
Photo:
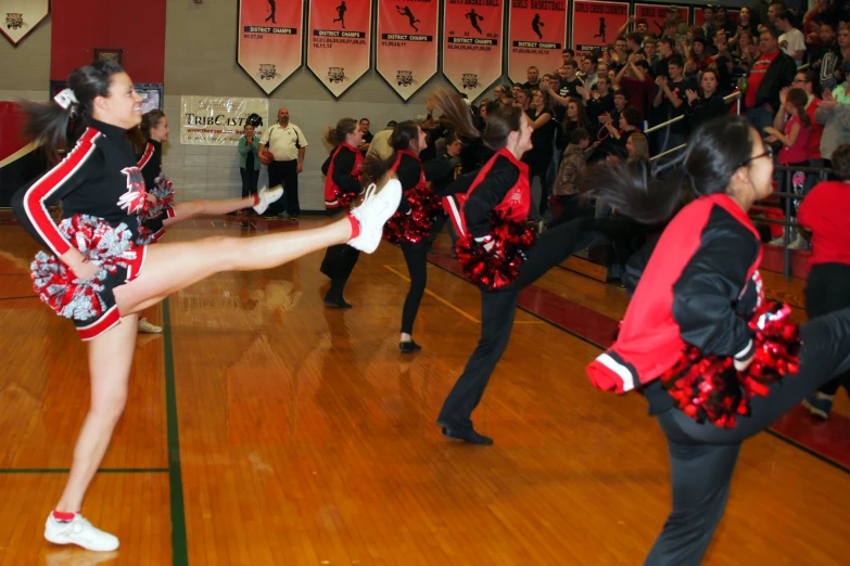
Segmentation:
[(734, 428), (699, 424), (678, 409), (658, 415), (668, 438), (673, 510), (646, 558), (647, 566), (697, 565), (723, 516), (740, 443), (764, 430), (832, 376), (850, 370), (850, 309), (800, 327), (800, 371), (751, 400)]

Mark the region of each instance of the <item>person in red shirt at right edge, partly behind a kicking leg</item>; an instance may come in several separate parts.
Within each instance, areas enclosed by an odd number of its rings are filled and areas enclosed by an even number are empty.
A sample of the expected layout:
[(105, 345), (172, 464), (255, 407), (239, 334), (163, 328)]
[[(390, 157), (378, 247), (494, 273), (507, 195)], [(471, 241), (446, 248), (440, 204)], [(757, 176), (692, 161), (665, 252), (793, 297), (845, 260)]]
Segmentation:
[[(833, 175), (837, 180), (816, 184), (805, 196), (797, 215), (811, 232), (812, 258), (805, 283), (805, 308), (815, 318), (850, 307), (850, 143), (833, 153)], [(838, 375), (803, 401), (815, 416), (827, 419), (833, 397), (843, 385), (850, 391), (850, 373)]]

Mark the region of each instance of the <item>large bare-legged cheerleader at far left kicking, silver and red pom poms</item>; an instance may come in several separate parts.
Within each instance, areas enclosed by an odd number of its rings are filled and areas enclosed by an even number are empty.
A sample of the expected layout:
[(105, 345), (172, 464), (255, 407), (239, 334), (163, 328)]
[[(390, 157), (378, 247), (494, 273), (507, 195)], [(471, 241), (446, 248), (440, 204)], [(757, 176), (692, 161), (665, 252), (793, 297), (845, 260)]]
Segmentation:
[[(330, 245), (371, 253), (396, 210), (401, 186), (370, 186), (345, 218), (316, 230), (255, 237), (207, 237), (140, 246), (135, 214), (147, 200), (127, 130), (141, 121), (141, 98), (114, 62), (100, 61), (68, 77), (54, 102), (25, 102), (25, 131), (55, 157), (73, 119), (65, 158), (13, 197), (27, 231), (47, 246), (34, 262), (36, 291), (71, 318), (88, 340), (91, 407), (77, 438), (65, 489), (47, 518), (45, 538), (112, 551), (118, 539), (79, 513), (83, 498), (110, 443), (127, 400), (138, 312), (214, 273), (269, 269)], [(76, 143), (76, 145), (74, 145)], [(47, 203), (62, 200), (56, 226)]]

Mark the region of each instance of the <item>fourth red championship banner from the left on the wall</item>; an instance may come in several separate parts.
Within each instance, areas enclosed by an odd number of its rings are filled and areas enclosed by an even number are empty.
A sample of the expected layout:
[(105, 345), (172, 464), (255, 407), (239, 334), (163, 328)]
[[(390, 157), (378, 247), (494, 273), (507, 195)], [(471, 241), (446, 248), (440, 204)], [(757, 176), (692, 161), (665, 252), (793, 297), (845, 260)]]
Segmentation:
[(443, 0), (443, 75), (475, 100), (502, 76), (502, 0)]

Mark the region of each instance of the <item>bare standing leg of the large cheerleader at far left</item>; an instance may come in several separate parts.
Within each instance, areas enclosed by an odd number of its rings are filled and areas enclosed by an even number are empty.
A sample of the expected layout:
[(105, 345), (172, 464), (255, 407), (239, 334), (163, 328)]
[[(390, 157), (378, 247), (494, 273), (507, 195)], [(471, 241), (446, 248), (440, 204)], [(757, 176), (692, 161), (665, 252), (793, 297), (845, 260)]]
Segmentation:
[(83, 497), (124, 412), (132, 355), (136, 351), (136, 314), (125, 317), (124, 324), (89, 342), (91, 407), (77, 437), (71, 475), (56, 511), (76, 513), (80, 510)]

